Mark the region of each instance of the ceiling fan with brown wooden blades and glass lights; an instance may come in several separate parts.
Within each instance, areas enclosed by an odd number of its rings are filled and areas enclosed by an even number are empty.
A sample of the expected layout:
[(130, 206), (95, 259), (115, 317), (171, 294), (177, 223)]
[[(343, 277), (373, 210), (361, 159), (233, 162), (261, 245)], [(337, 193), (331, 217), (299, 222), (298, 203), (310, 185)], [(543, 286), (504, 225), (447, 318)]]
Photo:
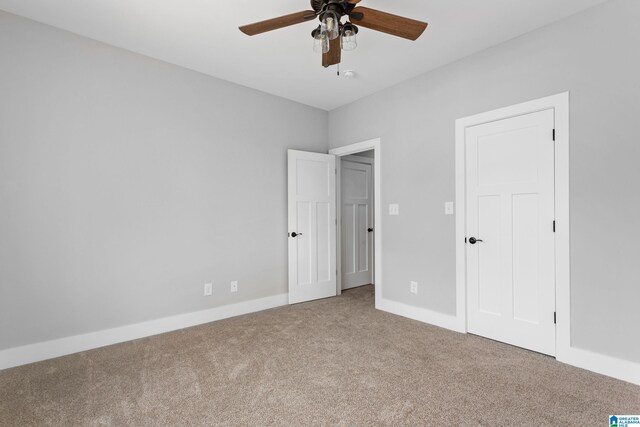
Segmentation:
[[(328, 67), (340, 63), (341, 51), (353, 50), (357, 46), (356, 34), (359, 25), (393, 36), (416, 40), (427, 28), (426, 22), (392, 15), (368, 7), (356, 6), (361, 0), (311, 0), (313, 10), (303, 10), (278, 18), (243, 25), (240, 31), (249, 35), (266, 33), (278, 28), (320, 20), (320, 25), (311, 32), (313, 49), (322, 53), (322, 65)], [(343, 16), (348, 16), (344, 24)]]

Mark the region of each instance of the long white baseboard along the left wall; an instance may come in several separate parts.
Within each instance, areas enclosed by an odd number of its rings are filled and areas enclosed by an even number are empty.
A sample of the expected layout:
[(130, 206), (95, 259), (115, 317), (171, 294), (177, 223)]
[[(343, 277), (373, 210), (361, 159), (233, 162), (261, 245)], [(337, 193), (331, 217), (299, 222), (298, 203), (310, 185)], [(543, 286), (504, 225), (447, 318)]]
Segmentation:
[(224, 305), (208, 310), (179, 314), (142, 323), (90, 332), (82, 335), (29, 344), (0, 351), (0, 370), (54, 357), (171, 332), (242, 314), (254, 313), (288, 304), (288, 294)]

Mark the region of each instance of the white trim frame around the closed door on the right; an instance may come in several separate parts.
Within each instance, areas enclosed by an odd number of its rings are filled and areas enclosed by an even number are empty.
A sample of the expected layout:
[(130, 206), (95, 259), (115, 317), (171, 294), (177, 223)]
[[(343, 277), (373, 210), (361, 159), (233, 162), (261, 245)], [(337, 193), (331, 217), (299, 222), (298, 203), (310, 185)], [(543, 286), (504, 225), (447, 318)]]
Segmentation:
[(566, 359), (571, 348), (571, 275), (569, 226), (569, 92), (524, 102), (456, 120), (456, 318), (467, 332), (466, 277), (466, 129), (485, 123), (552, 109), (555, 119), (555, 262), (556, 359)]

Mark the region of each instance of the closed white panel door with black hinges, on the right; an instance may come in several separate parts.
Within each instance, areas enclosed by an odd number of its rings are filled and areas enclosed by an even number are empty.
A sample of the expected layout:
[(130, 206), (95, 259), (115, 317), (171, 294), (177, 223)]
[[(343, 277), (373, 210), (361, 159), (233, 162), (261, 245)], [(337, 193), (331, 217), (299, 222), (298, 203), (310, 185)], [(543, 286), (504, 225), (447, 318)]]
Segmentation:
[(468, 331), (549, 355), (553, 128), (546, 110), (470, 127), (465, 136)]

